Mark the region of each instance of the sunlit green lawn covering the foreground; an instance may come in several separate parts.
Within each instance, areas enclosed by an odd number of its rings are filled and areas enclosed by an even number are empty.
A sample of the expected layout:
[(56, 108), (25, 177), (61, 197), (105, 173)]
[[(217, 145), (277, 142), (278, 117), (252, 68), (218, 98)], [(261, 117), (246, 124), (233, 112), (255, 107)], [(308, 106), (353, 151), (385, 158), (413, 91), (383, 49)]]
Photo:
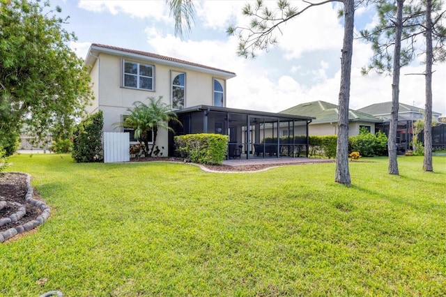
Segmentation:
[[(371, 162), (364, 162), (364, 160)], [(213, 174), (163, 162), (16, 155), (52, 206), (0, 245), (0, 296), (441, 296), (446, 158)]]

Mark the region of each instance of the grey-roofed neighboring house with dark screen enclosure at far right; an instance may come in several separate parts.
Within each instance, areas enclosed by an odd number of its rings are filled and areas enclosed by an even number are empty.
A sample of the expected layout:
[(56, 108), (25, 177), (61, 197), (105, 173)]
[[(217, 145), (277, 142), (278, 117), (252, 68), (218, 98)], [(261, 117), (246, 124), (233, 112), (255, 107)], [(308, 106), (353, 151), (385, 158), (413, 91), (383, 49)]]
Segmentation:
[[(383, 123), (380, 125), (380, 130), (389, 135), (390, 129), (390, 113), (392, 111), (392, 102), (382, 102), (369, 105), (357, 109), (360, 112), (367, 112), (374, 116), (383, 118)], [(397, 124), (397, 144), (401, 151), (410, 149), (410, 142), (413, 138), (413, 122), (419, 119), (424, 119), (425, 110), (420, 107), (399, 103), (398, 107), (398, 124)], [(440, 122), (441, 114), (439, 112), (432, 112), (432, 120)], [(423, 135), (419, 136), (419, 140), (423, 141)], [(446, 146), (445, 124), (438, 124), (432, 128), (432, 146), (433, 149), (440, 149)]]

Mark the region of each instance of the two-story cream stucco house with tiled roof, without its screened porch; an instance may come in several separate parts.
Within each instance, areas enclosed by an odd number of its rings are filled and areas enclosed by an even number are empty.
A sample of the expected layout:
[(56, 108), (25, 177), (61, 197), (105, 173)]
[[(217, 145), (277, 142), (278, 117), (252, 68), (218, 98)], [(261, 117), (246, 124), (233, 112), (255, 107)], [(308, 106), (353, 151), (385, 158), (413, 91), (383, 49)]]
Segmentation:
[[(135, 101), (162, 96), (173, 109), (196, 105), (226, 106), (226, 80), (230, 71), (190, 63), (168, 56), (93, 43), (85, 60), (90, 67), (95, 99), (87, 112), (102, 110), (104, 132), (120, 132), (123, 120)], [(167, 131), (161, 130), (159, 148), (167, 155)]]

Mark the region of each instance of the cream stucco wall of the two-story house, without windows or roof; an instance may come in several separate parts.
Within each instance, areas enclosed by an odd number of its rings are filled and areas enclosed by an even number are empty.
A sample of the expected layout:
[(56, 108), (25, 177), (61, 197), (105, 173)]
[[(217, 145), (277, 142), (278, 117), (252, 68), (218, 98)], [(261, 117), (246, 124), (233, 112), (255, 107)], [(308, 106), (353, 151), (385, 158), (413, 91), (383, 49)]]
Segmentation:
[[(99, 59), (95, 61), (91, 70), (95, 100), (87, 111), (91, 114), (98, 109), (102, 110), (104, 132), (122, 132), (123, 129), (117, 128), (116, 123), (122, 120), (123, 114), (127, 112), (128, 108), (132, 108), (136, 101), (147, 102), (148, 97), (157, 99), (162, 96), (162, 102), (171, 105), (171, 82), (178, 73), (185, 73), (185, 107), (213, 105), (213, 79), (218, 79), (222, 84), (226, 96), (226, 84), (223, 77), (154, 64), (139, 59), (126, 60), (154, 66), (154, 91), (121, 87), (121, 63), (123, 60), (120, 56), (99, 54)], [(226, 98), (224, 98), (224, 105), (226, 105)], [(168, 132), (166, 130), (158, 131), (156, 142), (162, 155), (168, 155)]]

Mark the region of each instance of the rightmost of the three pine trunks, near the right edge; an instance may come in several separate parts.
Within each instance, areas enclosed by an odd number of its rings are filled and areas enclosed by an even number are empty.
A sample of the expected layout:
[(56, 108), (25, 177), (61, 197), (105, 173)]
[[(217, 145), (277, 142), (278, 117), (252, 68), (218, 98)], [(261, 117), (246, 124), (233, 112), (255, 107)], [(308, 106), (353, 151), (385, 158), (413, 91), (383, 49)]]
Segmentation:
[(424, 114), (424, 161), (423, 170), (432, 167), (432, 0), (426, 0), (426, 112)]

